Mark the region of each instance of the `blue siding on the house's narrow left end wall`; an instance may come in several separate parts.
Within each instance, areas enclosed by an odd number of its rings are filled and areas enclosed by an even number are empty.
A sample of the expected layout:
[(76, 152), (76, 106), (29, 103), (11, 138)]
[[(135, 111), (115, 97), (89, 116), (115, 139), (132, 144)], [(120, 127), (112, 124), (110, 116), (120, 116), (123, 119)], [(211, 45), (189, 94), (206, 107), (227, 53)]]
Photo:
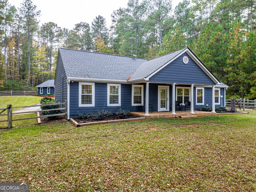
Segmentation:
[(65, 102), (67, 100), (67, 76), (59, 53), (56, 77), (55, 77), (55, 100)]

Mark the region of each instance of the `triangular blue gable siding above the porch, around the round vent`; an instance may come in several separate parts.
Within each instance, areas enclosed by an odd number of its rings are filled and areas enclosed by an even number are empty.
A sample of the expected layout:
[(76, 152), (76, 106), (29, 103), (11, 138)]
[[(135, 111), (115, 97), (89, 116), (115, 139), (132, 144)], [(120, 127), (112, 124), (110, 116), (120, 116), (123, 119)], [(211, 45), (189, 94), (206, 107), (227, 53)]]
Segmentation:
[[(188, 64), (182, 62), (182, 58), (187, 56)], [(184, 83), (184, 84), (204, 84), (215, 85), (214, 81), (190, 58), (187, 53), (182, 54), (176, 60), (168, 64), (165, 68), (157, 72), (149, 79), (150, 82), (163, 83)]]

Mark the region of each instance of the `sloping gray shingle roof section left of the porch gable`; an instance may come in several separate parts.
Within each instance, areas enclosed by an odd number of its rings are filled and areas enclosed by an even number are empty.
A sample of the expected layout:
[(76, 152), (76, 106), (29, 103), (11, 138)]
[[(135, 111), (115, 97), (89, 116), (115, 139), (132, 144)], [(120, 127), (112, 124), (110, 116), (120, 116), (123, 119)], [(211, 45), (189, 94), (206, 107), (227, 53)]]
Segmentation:
[(176, 57), (178, 54), (180, 54), (182, 50), (178, 50), (148, 61), (143, 62), (132, 74), (132, 78), (130, 80), (140, 79), (140, 78), (146, 78), (150, 74), (152, 74), (154, 71), (158, 70), (160, 67), (162, 67), (164, 64), (172, 60), (174, 57)]

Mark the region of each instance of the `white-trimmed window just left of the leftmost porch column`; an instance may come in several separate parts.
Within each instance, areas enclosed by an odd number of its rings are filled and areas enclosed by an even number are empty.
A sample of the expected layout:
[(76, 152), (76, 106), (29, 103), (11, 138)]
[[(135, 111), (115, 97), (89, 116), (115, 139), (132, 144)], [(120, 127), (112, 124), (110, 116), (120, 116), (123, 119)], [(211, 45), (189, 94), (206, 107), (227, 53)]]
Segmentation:
[(143, 85), (132, 85), (132, 106), (143, 106)]

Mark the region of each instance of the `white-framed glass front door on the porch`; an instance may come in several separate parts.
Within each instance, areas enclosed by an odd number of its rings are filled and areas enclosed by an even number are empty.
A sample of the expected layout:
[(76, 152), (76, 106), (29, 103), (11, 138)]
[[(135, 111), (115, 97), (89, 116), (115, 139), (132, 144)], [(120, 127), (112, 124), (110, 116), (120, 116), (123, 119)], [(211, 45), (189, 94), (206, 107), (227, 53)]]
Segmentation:
[(158, 87), (158, 110), (169, 111), (169, 86)]

